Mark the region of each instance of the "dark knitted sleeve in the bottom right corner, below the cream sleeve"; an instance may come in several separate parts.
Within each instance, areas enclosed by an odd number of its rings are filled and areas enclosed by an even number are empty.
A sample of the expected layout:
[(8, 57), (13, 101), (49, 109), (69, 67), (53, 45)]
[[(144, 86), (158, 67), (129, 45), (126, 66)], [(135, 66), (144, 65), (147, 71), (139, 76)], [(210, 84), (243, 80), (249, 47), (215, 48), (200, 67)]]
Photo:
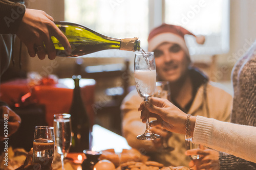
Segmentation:
[(246, 161), (233, 155), (220, 152), (220, 170), (256, 170), (256, 163)]

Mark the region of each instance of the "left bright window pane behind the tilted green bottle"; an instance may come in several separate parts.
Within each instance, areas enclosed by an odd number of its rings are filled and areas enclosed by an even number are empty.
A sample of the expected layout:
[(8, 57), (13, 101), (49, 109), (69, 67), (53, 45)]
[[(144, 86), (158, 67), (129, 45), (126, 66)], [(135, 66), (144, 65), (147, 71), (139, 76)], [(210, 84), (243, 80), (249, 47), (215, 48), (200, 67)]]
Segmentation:
[[(147, 0), (65, 0), (65, 20), (84, 25), (100, 34), (114, 38), (139, 37), (147, 47)], [(126, 57), (133, 52), (107, 50), (87, 57)]]

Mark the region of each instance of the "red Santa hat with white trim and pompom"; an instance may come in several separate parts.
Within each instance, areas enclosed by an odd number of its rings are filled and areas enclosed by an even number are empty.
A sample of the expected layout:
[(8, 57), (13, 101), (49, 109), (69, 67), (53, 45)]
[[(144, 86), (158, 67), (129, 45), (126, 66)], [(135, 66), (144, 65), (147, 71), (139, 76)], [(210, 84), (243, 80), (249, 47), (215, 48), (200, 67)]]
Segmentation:
[(150, 35), (148, 35), (148, 51), (154, 51), (156, 47), (163, 42), (172, 42), (179, 44), (189, 56), (188, 48), (184, 39), (186, 34), (195, 36), (198, 44), (203, 44), (205, 41), (205, 37), (202, 35), (196, 36), (180, 26), (167, 25), (166, 23), (163, 23), (161, 26), (153, 29), (150, 32)]

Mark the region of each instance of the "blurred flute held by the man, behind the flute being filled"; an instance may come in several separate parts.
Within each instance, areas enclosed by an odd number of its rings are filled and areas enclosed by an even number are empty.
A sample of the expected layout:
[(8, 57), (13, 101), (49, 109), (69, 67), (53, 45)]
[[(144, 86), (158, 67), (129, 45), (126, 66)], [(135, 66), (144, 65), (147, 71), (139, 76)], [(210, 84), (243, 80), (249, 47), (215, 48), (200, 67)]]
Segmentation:
[[(170, 86), (168, 81), (159, 81), (156, 82), (156, 90), (153, 95), (156, 98), (161, 98), (161, 99), (167, 99), (170, 101)], [(167, 130), (166, 130), (167, 131)], [(171, 135), (171, 132), (167, 131), (167, 136), (162, 137), (161, 142), (162, 142), (162, 147), (160, 148), (159, 152), (170, 152), (173, 151), (173, 147), (168, 146), (168, 139)]]

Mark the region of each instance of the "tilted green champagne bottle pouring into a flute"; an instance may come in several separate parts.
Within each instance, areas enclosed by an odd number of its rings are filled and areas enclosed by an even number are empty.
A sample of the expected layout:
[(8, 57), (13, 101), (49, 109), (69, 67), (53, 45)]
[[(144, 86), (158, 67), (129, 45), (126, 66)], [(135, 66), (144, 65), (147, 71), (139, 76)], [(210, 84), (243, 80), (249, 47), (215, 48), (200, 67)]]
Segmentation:
[(125, 51), (139, 51), (140, 41), (138, 38), (117, 39), (99, 34), (87, 27), (71, 22), (54, 22), (56, 26), (68, 38), (71, 45), (71, 54), (65, 53), (65, 49), (60, 42), (52, 36), (52, 41), (56, 49), (56, 56), (78, 57), (102, 50), (118, 49)]

